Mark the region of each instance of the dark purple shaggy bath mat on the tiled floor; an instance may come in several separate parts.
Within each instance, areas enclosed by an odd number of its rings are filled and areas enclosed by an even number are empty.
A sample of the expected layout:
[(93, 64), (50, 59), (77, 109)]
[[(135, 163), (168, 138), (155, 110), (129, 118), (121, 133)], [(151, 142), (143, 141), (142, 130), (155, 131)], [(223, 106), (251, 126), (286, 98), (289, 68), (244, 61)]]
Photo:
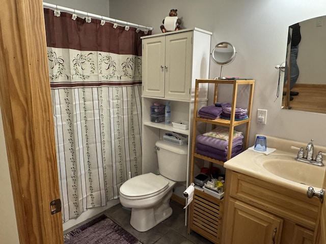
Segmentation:
[(142, 244), (105, 215), (68, 232), (64, 240), (65, 244)]

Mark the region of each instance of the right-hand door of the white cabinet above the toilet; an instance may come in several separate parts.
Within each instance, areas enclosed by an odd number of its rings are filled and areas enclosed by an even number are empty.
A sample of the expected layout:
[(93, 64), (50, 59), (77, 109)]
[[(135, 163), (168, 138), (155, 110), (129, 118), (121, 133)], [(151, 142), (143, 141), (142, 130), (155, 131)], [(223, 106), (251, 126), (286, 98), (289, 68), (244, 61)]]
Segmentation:
[(190, 98), (192, 34), (184, 32), (166, 36), (166, 98)]

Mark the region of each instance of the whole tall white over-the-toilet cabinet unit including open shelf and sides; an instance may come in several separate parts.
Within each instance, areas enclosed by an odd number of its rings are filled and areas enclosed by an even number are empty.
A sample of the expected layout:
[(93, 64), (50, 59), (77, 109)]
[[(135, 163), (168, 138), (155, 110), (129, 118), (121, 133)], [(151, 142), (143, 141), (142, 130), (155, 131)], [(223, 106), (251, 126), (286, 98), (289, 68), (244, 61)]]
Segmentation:
[[(142, 154), (143, 173), (158, 173), (155, 142), (166, 132), (188, 136), (188, 162), (191, 155), (191, 133), (195, 82), (209, 74), (210, 32), (198, 28), (142, 37)], [(202, 89), (200, 102), (207, 103), (207, 86)], [(171, 122), (188, 120), (188, 130), (175, 129), (172, 124), (151, 122), (150, 106), (154, 102), (170, 101)], [(189, 168), (187, 168), (188, 172)]]

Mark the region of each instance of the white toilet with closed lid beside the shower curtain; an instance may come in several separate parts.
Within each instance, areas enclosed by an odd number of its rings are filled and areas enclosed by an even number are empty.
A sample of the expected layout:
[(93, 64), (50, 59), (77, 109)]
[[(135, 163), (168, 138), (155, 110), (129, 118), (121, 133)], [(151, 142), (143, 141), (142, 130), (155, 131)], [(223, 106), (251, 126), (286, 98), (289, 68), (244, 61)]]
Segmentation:
[(176, 182), (186, 180), (187, 145), (155, 143), (159, 174), (146, 173), (128, 179), (120, 187), (120, 203), (131, 208), (130, 224), (147, 231), (172, 215), (170, 198)]

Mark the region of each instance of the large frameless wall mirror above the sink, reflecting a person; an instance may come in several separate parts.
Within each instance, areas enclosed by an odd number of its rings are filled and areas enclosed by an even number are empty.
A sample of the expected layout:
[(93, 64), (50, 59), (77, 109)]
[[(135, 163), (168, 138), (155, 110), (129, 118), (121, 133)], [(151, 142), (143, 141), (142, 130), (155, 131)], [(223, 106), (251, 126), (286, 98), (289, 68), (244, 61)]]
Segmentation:
[[(295, 26), (300, 26), (301, 35), (301, 40), (296, 47), (291, 43), (297, 35)], [(326, 113), (326, 45), (324, 43), (326, 16), (294, 23), (289, 26), (289, 34), (289, 40), (286, 43), (288, 51), (285, 56), (282, 108)], [(291, 47), (296, 49), (293, 50)], [(293, 62), (294, 64), (296, 62), (297, 67), (294, 67), (294, 70), (297, 69), (298, 72), (291, 74)], [(296, 82), (290, 93), (287, 93), (287, 80), (296, 75), (298, 75)]]

